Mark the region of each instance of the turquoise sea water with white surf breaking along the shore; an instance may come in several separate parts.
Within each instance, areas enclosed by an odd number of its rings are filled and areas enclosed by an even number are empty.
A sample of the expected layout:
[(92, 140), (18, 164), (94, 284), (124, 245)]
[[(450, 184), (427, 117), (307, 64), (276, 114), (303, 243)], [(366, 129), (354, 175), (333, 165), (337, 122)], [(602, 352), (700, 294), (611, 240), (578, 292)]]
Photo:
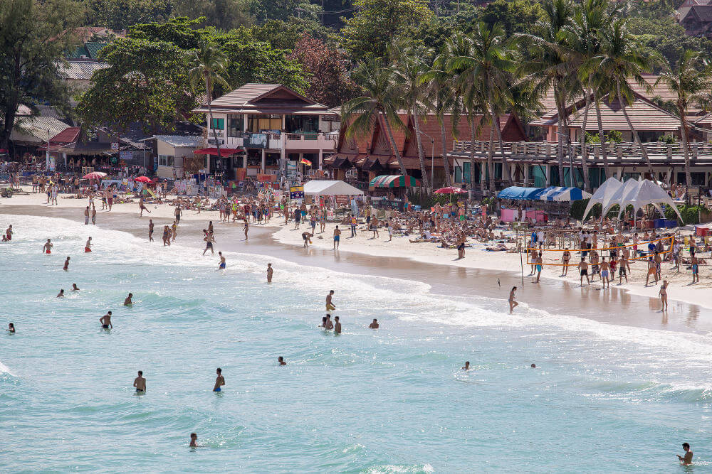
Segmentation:
[[(525, 306), (510, 316), (494, 298), (268, 257), (227, 254), (221, 272), (189, 247), (0, 215), (9, 223), (0, 325), (18, 332), (0, 335), (4, 472), (670, 472), (684, 470), (684, 441), (694, 470), (710, 469), (708, 335)], [(328, 289), (340, 336), (317, 328)], [(204, 447), (187, 447), (192, 431)]]

